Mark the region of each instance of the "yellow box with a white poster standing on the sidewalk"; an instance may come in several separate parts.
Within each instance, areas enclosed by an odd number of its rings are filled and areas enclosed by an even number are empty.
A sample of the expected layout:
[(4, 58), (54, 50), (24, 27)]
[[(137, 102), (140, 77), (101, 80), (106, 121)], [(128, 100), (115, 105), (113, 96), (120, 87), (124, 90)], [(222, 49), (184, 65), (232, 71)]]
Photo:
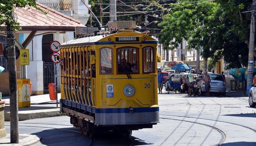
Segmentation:
[(17, 79), (18, 107), (30, 107), (30, 79)]

